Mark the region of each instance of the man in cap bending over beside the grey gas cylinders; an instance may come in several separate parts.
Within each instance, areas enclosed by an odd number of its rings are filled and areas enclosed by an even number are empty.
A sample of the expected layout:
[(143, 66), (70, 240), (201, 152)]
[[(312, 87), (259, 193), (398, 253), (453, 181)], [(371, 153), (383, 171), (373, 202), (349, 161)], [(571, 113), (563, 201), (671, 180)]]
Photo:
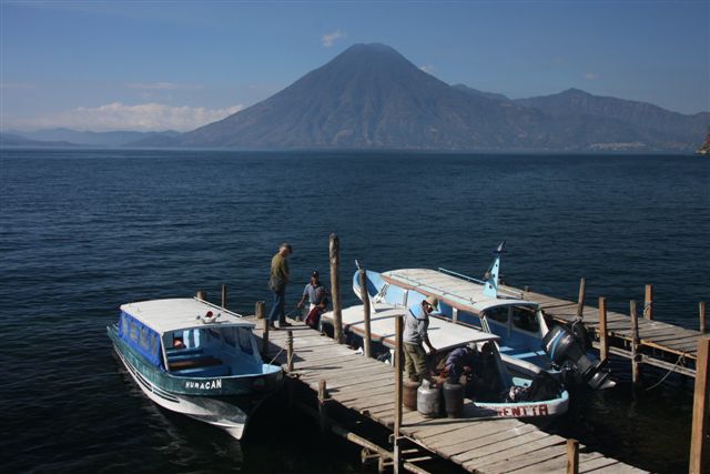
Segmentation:
[(407, 376), (413, 382), (424, 379), (432, 381), (429, 367), (426, 363), (426, 351), (424, 344), (432, 353), (436, 349), (429, 342), (427, 330), (429, 329), (429, 314), (439, 305), (439, 301), (434, 296), (428, 296), (422, 302), (422, 313), (415, 315), (412, 310), (405, 313), (404, 322), (404, 359), (407, 367)]

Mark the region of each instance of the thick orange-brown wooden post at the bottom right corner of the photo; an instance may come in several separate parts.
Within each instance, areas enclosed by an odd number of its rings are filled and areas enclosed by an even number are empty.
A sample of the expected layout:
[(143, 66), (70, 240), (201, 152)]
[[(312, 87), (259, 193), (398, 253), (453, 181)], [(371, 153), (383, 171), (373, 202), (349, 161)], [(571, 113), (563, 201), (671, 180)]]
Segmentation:
[(696, 390), (692, 403), (692, 428), (690, 432), (690, 474), (706, 473), (708, 467), (708, 366), (710, 365), (710, 337), (698, 340), (698, 361), (696, 363)]

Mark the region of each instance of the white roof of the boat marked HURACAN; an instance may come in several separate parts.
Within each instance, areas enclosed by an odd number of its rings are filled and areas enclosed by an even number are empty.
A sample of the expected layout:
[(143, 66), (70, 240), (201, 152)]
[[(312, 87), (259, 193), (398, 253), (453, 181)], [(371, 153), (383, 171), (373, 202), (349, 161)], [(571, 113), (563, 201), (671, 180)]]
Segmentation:
[[(161, 335), (170, 331), (187, 329), (207, 329), (220, 326), (254, 327), (254, 324), (244, 321), (239, 315), (221, 310), (204, 301), (190, 297), (170, 300), (150, 300), (121, 305), (121, 311), (130, 314), (148, 327)], [(211, 311), (220, 314), (212, 323), (203, 323), (202, 317)]]

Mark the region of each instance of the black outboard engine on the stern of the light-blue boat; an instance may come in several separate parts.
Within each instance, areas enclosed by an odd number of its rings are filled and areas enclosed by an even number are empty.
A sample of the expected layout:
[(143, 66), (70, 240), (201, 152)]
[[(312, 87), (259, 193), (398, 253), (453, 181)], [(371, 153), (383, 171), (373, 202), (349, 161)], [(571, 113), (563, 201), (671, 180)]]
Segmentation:
[[(581, 323), (576, 323), (579, 326)], [(577, 329), (577, 327), (575, 327)], [(577, 332), (577, 331), (575, 331)], [(610, 389), (616, 383), (609, 380), (609, 372), (604, 363), (592, 361), (585, 353), (587, 341), (579, 341), (572, 331), (557, 325), (542, 337), (542, 349), (557, 365), (570, 362), (581, 379), (594, 390)]]

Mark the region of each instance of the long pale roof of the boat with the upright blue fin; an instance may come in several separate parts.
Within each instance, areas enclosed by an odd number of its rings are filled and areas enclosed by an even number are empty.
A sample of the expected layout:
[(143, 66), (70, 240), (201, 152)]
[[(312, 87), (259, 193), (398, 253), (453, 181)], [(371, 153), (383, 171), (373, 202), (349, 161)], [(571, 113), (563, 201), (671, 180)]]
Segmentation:
[(425, 296), (436, 296), (452, 307), (476, 314), (494, 307), (538, 306), (534, 301), (505, 296), (490, 297), (484, 294), (481, 284), (436, 270), (392, 270), (382, 273), (382, 279), (389, 284), (415, 290)]

